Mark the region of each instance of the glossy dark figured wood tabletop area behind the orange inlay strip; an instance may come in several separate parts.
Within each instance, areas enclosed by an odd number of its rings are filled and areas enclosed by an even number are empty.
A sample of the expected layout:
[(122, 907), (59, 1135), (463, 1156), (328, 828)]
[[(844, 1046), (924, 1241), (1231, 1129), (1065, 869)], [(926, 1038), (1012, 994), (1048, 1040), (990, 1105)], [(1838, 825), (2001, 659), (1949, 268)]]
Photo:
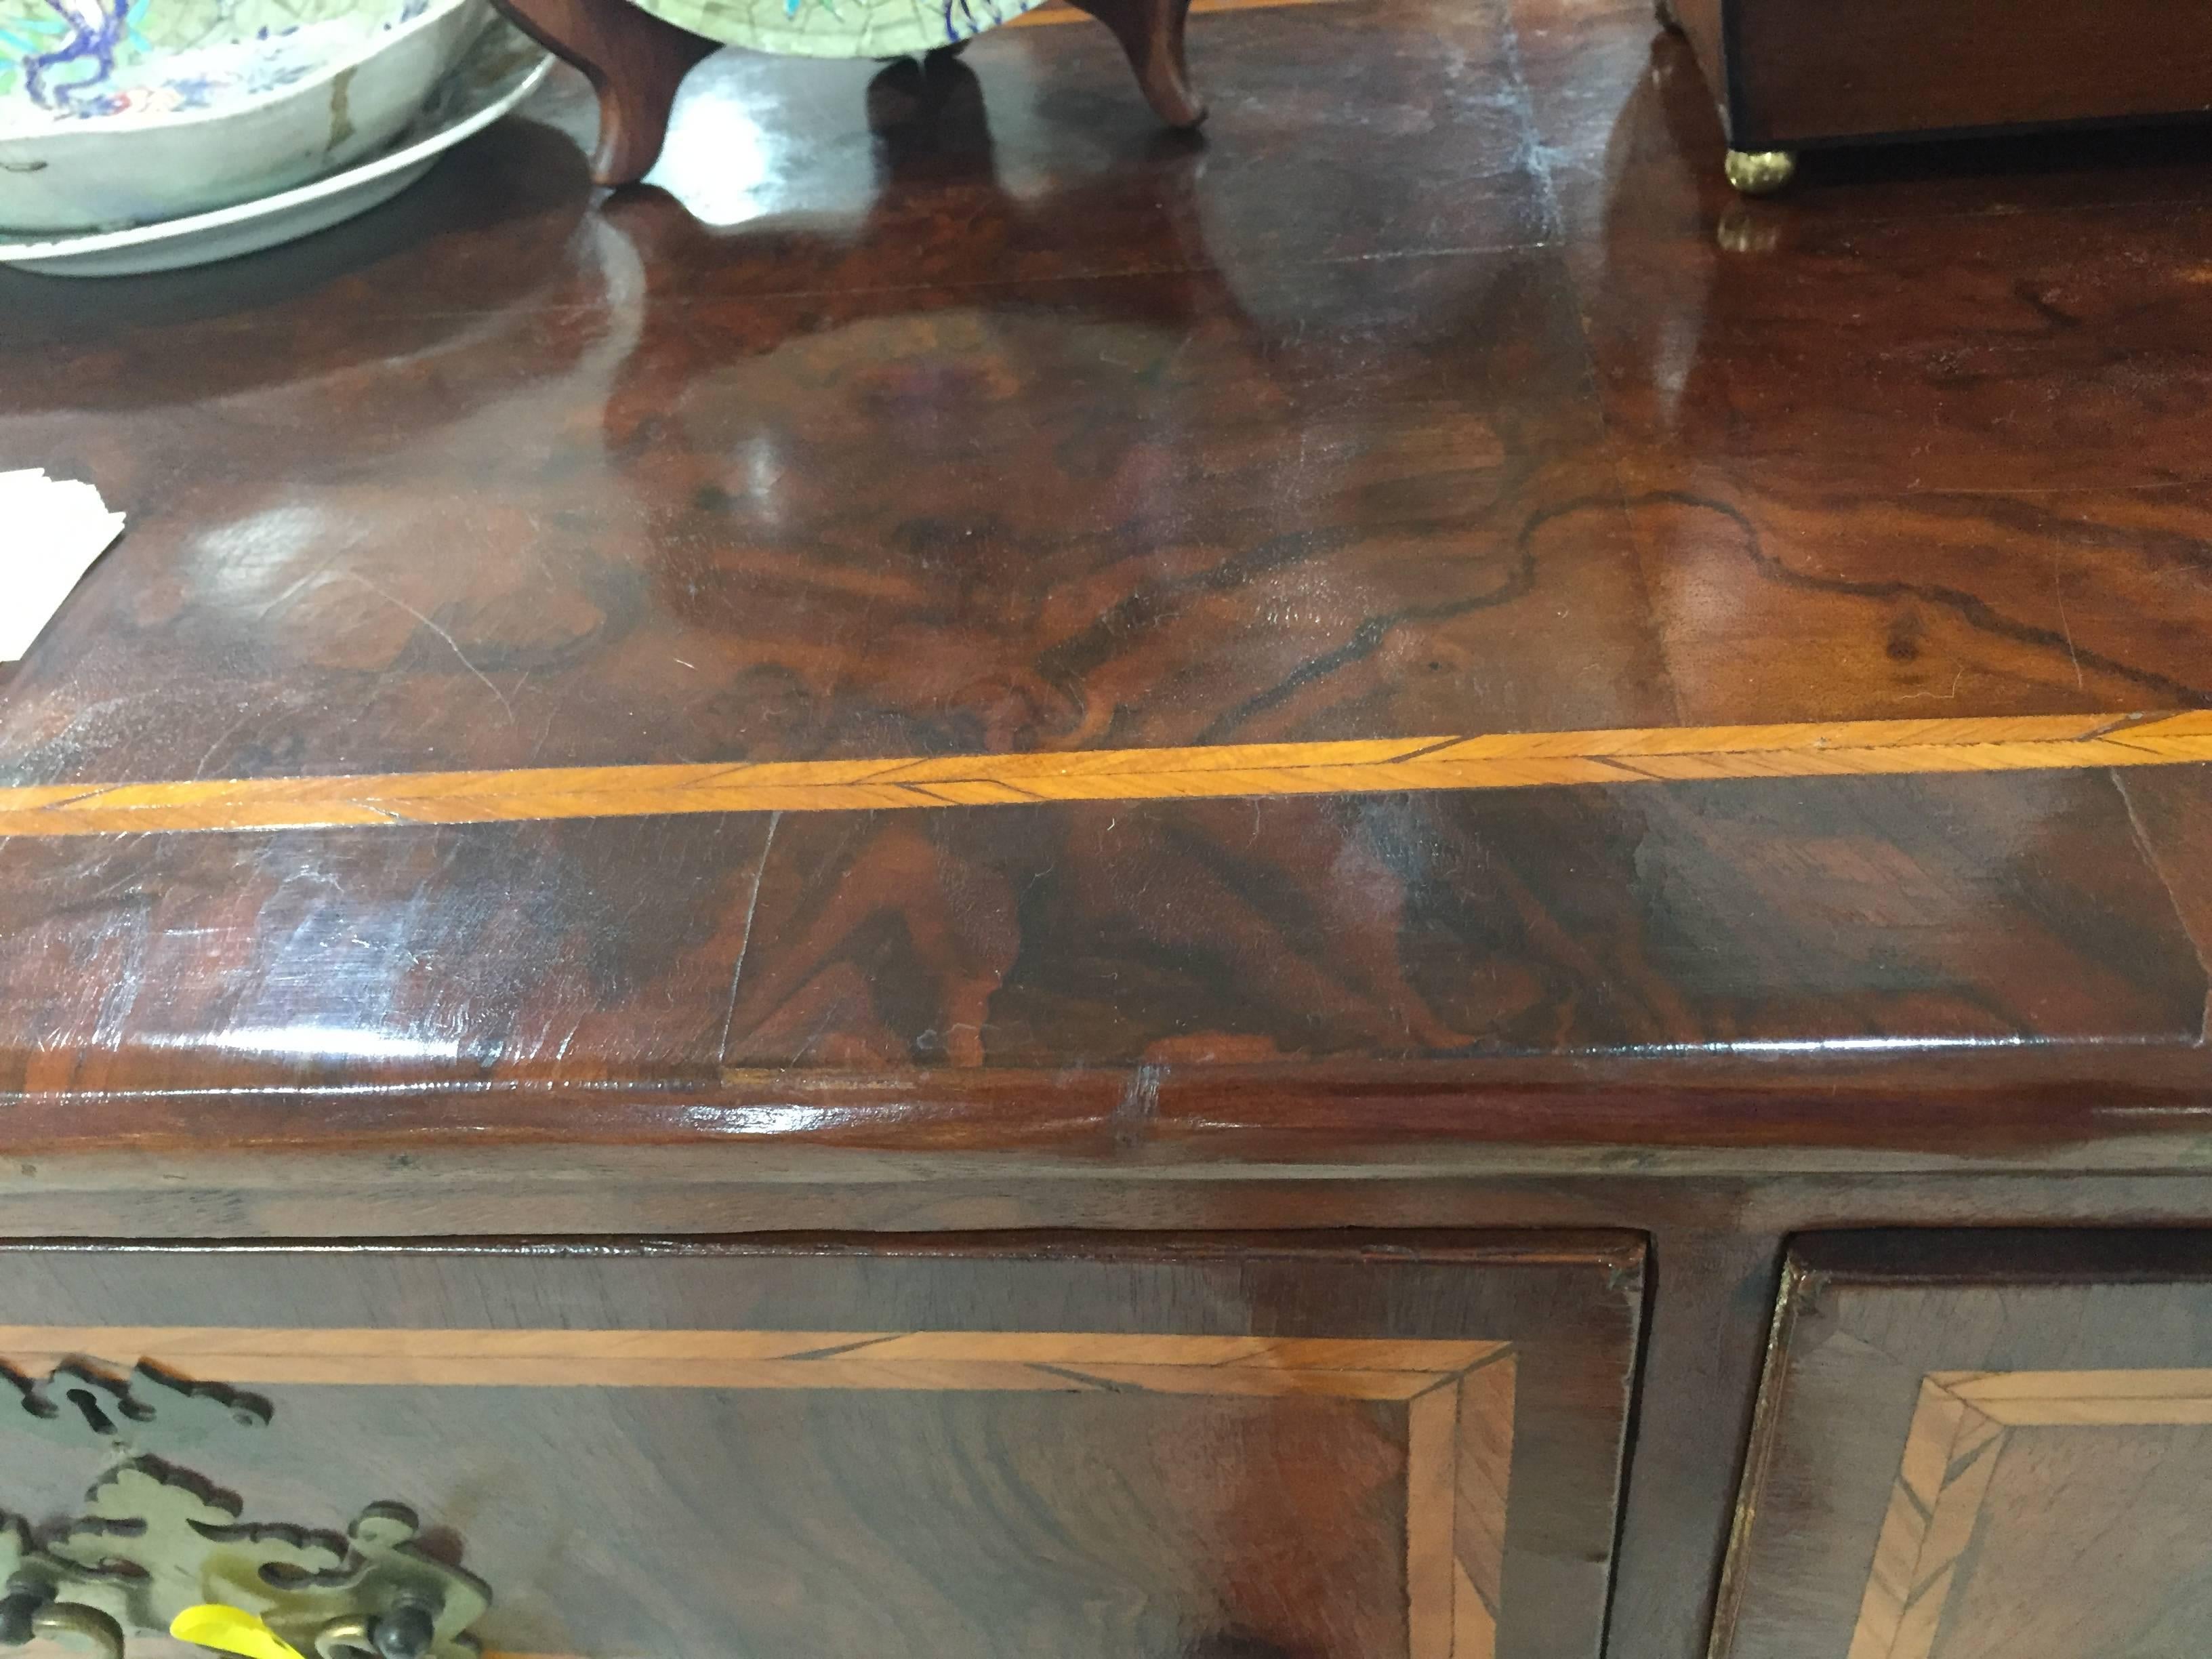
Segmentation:
[[(1867, 161), (1741, 259), (1632, 4), (1206, 27), (1203, 166), (1097, 126), (1093, 29), (993, 31), (942, 95), (732, 53), (611, 215), (562, 82), (164, 305), (0, 276), (9, 447), (137, 509), (11, 679), (9, 779), (2212, 697), (2185, 142)], [(1321, 82), (1429, 115), (1321, 157)]]

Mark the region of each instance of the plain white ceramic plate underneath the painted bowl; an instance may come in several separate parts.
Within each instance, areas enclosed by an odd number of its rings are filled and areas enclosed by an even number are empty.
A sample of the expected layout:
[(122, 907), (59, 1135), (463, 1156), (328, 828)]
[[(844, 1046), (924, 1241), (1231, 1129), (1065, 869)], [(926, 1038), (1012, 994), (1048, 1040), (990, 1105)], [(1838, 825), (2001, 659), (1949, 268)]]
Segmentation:
[(538, 91), (551, 69), (553, 60), (542, 46), (500, 22), (438, 84), (396, 144), (369, 161), (294, 190), (186, 219), (42, 241), (0, 241), (0, 265), (46, 276), (133, 276), (208, 265), (296, 241), (396, 197), (429, 173), (440, 155)]

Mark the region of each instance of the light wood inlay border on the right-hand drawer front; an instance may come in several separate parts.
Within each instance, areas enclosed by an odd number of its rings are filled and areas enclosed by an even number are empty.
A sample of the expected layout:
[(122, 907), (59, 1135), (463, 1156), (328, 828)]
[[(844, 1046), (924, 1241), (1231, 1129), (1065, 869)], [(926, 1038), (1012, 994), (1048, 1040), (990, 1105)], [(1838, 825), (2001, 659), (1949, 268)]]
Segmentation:
[(1849, 1659), (1929, 1659), (2013, 1429), (2212, 1422), (2212, 1371), (1931, 1371), (1905, 1431)]

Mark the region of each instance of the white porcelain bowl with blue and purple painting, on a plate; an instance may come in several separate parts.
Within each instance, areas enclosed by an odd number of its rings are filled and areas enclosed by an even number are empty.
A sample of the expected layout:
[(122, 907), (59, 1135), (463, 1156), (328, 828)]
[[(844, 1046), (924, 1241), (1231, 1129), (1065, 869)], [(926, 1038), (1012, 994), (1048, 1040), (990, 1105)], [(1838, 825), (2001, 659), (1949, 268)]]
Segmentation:
[(387, 144), (489, 0), (0, 0), (0, 228), (228, 208)]

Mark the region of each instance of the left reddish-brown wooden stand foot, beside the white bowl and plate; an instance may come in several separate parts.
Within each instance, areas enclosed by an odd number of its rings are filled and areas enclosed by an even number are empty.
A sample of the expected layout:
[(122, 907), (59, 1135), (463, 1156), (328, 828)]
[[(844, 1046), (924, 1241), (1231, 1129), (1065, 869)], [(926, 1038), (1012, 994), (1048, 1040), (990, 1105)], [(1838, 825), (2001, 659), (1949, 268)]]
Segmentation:
[(546, 51), (566, 58), (599, 93), (591, 177), (637, 184), (661, 155), (668, 111), (692, 64), (721, 42), (639, 11), (630, 0), (495, 0)]

